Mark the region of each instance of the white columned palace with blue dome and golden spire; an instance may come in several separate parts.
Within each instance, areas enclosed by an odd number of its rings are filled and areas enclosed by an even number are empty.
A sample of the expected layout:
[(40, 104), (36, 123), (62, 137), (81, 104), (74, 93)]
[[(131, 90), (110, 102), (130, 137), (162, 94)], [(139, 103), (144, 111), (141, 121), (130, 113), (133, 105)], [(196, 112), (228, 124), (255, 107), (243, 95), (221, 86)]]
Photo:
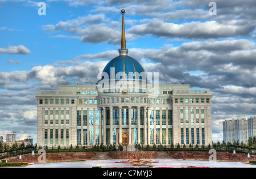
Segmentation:
[(210, 90), (148, 78), (128, 56), (122, 18), (119, 56), (102, 69), (101, 80), (39, 91), (38, 147), (211, 144)]

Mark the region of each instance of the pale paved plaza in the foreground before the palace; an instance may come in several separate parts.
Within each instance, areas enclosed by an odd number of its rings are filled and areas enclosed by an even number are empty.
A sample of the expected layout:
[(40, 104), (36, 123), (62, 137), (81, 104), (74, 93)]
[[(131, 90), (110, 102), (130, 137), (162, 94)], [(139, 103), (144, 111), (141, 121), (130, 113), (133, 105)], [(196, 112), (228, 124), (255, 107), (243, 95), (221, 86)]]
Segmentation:
[[(47, 163), (47, 164), (31, 164), (26, 168), (122, 168), (133, 167), (131, 164), (115, 163), (115, 161), (127, 161), (127, 160), (87, 160), (87, 161), (73, 161), (62, 163)], [(154, 163), (155, 167), (213, 167), (213, 168), (256, 168), (256, 165), (243, 164), (241, 162), (215, 162), (209, 163), (209, 161), (193, 161), (193, 160), (178, 160), (178, 159), (153, 159), (152, 161), (158, 161)], [(144, 166), (147, 167), (147, 166)], [(139, 167), (141, 168), (141, 167)]]

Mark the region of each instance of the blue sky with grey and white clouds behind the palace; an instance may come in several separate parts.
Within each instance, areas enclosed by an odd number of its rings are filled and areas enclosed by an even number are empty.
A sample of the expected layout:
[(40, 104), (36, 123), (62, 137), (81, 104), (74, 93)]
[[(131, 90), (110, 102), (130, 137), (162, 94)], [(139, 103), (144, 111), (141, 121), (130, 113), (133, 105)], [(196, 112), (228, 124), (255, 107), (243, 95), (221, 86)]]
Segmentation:
[(0, 135), (36, 140), (36, 90), (95, 82), (126, 46), (161, 82), (210, 88), (213, 140), (222, 121), (256, 116), (255, 0), (0, 0)]

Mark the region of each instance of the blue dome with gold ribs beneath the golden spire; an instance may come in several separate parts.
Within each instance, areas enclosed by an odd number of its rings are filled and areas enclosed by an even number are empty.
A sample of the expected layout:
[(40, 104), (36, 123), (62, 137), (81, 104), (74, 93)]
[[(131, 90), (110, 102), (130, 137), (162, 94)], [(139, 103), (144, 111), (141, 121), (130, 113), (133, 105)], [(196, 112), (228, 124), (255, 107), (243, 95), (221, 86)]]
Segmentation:
[[(114, 68), (114, 69), (113, 69)], [(129, 56), (118, 56), (113, 58), (104, 68), (103, 72), (108, 73), (110, 76), (116, 76), (125, 73), (126, 79), (129, 78), (129, 73), (138, 73), (137, 75), (144, 73), (144, 69), (141, 64), (134, 58)], [(119, 73), (119, 74), (118, 74)], [(144, 75), (143, 75), (144, 76)], [(134, 75), (134, 78), (137, 78)]]

